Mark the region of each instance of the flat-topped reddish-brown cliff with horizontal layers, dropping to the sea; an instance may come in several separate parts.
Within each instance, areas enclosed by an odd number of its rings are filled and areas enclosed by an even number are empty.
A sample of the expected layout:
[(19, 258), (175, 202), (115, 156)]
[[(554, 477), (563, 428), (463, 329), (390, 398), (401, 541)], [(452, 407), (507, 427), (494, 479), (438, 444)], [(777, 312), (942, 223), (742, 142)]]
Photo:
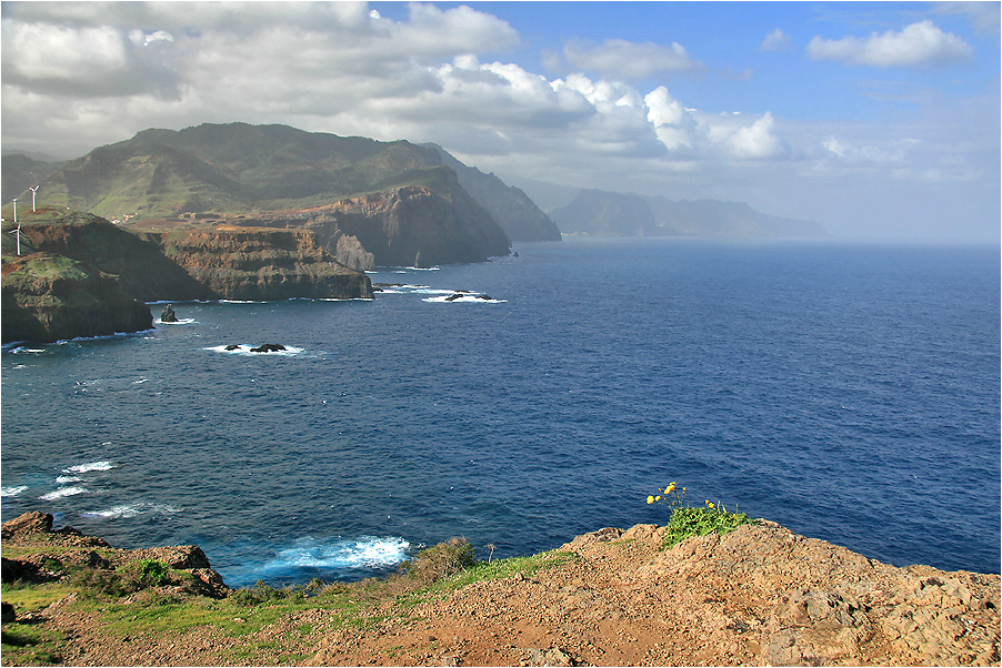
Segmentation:
[(160, 236), (163, 254), (216, 298), (370, 298), (369, 277), (305, 230), (217, 226)]

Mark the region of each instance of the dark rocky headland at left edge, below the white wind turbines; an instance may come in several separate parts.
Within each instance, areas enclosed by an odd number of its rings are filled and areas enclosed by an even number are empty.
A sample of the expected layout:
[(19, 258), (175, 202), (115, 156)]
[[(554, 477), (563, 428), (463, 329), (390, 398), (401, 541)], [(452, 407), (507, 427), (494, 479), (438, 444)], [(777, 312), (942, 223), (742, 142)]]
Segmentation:
[(153, 326), (149, 306), (126, 292), (118, 276), (51, 253), (4, 262), (2, 295), (3, 343), (49, 343)]

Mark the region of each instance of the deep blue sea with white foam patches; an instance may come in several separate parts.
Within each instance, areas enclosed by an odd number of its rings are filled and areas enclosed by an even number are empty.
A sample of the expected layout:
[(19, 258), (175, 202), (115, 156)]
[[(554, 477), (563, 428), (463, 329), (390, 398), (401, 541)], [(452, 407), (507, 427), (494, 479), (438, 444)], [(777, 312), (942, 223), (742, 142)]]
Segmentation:
[(882, 561), (999, 573), (996, 247), (514, 250), (381, 270), (403, 285), (372, 301), (177, 303), (148, 333), (8, 347), (3, 519), (290, 584), (451, 536), (499, 557), (663, 524), (644, 500), (674, 480)]

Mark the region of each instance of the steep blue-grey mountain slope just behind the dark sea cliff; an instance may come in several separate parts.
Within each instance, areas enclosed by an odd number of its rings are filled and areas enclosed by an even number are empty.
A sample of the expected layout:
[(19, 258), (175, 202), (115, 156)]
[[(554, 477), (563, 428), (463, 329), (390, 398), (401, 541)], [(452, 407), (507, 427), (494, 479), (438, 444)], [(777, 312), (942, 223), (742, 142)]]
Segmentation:
[(487, 209), (510, 240), (560, 241), (560, 229), (523, 191), (493, 173), (467, 166), (438, 144), (423, 145), (434, 149), (442, 164), (455, 170), (460, 185)]

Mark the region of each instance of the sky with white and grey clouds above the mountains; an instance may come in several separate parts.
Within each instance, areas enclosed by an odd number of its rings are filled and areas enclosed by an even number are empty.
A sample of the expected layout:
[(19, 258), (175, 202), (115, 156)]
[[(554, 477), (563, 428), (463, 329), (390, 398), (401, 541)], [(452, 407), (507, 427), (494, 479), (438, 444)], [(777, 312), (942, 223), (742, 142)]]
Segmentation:
[(999, 2), (7, 2), (2, 145), (285, 123), (522, 179), (1000, 236)]

